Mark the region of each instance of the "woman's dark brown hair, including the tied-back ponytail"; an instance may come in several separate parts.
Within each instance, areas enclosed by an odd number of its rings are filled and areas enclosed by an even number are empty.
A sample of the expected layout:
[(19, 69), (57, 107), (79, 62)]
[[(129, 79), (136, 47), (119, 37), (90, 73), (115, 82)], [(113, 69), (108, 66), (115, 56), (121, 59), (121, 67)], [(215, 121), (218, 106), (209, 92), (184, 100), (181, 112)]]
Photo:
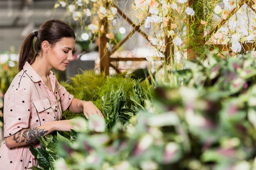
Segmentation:
[(35, 33), (30, 33), (22, 44), (18, 61), (18, 71), (22, 70), (26, 61), (30, 64), (34, 62), (36, 55), (41, 50), (43, 41), (46, 40), (54, 46), (63, 37), (76, 39), (74, 30), (61, 20), (49, 20), (39, 27), (35, 47), (33, 47), (34, 37)]

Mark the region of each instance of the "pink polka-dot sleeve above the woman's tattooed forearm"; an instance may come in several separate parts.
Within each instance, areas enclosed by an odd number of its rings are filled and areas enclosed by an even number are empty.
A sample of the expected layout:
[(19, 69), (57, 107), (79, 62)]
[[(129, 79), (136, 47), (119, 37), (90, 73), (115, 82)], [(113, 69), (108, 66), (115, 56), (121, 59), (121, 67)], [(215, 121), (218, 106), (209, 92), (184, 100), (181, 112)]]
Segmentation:
[(29, 127), (30, 94), (26, 89), (13, 89), (4, 96), (4, 137)]

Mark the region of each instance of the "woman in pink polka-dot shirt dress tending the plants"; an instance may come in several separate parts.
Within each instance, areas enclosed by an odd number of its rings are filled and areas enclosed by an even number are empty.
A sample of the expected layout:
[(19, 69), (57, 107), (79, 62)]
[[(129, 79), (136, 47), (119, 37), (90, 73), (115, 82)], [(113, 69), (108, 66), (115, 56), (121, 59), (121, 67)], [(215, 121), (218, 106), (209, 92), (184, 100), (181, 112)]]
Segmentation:
[[(33, 39), (36, 37), (35, 46)], [(61, 120), (68, 109), (73, 113), (103, 118), (90, 101), (74, 98), (62, 87), (52, 68), (64, 71), (72, 61), (74, 30), (60, 20), (49, 20), (23, 42), (19, 73), (4, 96), (4, 143), (0, 165), (4, 170), (24, 170), (37, 166), (29, 145), (38, 146), (37, 137), (52, 131), (70, 131), (70, 120)]]

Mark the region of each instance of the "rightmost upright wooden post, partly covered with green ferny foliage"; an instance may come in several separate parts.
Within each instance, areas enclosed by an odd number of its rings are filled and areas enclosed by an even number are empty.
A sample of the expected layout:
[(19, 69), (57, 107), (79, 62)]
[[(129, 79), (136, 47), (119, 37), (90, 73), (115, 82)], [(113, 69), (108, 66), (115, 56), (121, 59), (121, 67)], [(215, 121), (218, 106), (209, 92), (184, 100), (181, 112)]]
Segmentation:
[[(187, 17), (189, 17), (189, 20), (187, 22), (186, 30), (187, 30), (187, 35), (189, 35), (189, 30), (191, 28), (191, 25), (193, 24), (193, 28), (195, 28), (195, 30), (198, 30), (198, 33), (194, 34), (193, 37), (188, 36), (187, 41), (188, 42), (193, 41), (194, 43), (196, 43), (196, 47), (198, 47), (198, 49), (203, 48), (203, 46), (205, 44), (204, 29), (201, 24), (201, 19), (203, 19), (203, 15), (204, 15), (203, 4), (202, 4), (201, 0), (189, 0), (188, 4), (189, 4), (189, 7), (191, 7), (191, 8), (193, 8), (193, 4), (201, 4), (202, 5), (200, 10), (195, 11), (194, 16), (190, 16), (190, 15), (187, 16)], [(195, 17), (195, 16), (197, 16), (197, 17)], [(192, 22), (192, 18), (193, 18), (193, 22)], [(194, 33), (196, 33), (196, 32), (194, 32)], [(192, 59), (196, 59), (196, 57), (198, 57), (198, 54), (195, 51), (195, 49), (193, 49), (191, 46), (188, 46), (187, 59), (192, 60)]]

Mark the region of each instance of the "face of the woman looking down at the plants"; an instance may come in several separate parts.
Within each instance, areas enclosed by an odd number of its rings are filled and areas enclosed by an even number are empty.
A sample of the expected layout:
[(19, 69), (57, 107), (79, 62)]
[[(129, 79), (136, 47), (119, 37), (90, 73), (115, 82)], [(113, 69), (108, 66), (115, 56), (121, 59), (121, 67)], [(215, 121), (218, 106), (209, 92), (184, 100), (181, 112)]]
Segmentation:
[(49, 49), (47, 61), (56, 70), (64, 71), (70, 61), (73, 60), (72, 51), (75, 40), (72, 37), (64, 37), (55, 46)]

